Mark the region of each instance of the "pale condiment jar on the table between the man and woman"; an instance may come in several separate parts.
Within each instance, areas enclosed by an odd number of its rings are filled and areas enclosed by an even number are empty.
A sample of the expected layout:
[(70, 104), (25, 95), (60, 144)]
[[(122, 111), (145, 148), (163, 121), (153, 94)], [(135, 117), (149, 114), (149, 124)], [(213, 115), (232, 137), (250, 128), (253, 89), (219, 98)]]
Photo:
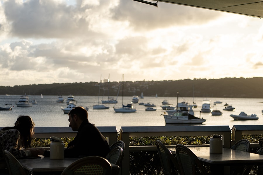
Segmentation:
[(61, 139), (51, 136), (50, 159), (64, 159), (64, 143)]

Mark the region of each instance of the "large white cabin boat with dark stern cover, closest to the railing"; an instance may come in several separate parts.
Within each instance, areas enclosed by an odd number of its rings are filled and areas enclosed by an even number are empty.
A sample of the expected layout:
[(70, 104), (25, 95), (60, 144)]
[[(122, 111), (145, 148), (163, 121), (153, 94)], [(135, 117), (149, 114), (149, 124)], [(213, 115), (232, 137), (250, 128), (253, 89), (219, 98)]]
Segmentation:
[(203, 118), (195, 117), (188, 112), (175, 112), (173, 115), (163, 115), (165, 118), (165, 123), (173, 123), (173, 124), (181, 124), (181, 123), (189, 123), (189, 124), (197, 124), (203, 123), (206, 120)]

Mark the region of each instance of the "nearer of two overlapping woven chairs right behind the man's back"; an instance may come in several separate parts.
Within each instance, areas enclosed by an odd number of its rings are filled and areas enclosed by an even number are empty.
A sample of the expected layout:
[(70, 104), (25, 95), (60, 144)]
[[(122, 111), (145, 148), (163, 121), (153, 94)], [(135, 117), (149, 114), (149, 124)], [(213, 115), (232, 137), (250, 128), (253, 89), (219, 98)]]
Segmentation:
[(119, 174), (120, 171), (120, 167), (122, 164), (122, 148), (120, 146), (117, 146), (115, 148), (113, 148), (110, 153), (108, 153), (108, 155), (106, 155), (106, 159), (112, 163), (117, 165), (119, 168), (117, 169), (112, 169), (112, 174)]

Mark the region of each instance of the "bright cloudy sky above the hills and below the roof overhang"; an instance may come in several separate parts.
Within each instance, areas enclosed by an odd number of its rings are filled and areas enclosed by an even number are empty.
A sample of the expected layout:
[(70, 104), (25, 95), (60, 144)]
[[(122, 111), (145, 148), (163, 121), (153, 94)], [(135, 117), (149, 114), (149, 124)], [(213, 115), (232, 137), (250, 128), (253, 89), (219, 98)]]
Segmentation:
[[(155, 1), (151, 1), (155, 2)], [(0, 0), (0, 86), (263, 76), (263, 19), (132, 0)]]

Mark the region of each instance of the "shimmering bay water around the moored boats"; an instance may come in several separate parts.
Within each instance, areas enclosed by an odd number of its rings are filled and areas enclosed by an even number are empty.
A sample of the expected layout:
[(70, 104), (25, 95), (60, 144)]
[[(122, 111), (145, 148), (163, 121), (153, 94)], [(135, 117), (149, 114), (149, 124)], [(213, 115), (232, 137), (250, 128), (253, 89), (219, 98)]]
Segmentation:
[[(41, 99), (40, 96), (35, 96), (37, 105), (32, 107), (17, 107), (15, 102), (18, 101), (20, 95), (0, 95), (0, 106), (5, 103), (12, 104), (12, 111), (0, 111), (0, 127), (13, 126), (18, 115), (29, 115), (35, 122), (36, 127), (52, 127), (52, 126), (68, 126), (68, 115), (64, 114), (61, 106), (66, 107), (66, 103), (57, 103), (58, 96), (45, 96)], [(106, 99), (104, 97), (103, 99)], [(29, 95), (29, 100), (33, 99), (33, 95)], [(64, 96), (66, 101), (67, 97)], [(102, 97), (100, 97), (101, 101)], [(132, 97), (124, 97), (124, 104), (131, 102)], [(165, 126), (163, 114), (164, 110), (160, 107), (164, 99), (169, 100), (173, 106), (177, 104), (177, 97), (144, 97), (139, 102), (155, 104), (156, 111), (145, 111), (145, 106), (134, 104), (136, 108), (135, 113), (115, 113), (113, 107), (115, 104), (105, 104), (110, 106), (110, 109), (93, 110), (92, 105), (98, 104), (98, 96), (75, 96), (77, 106), (88, 107), (89, 121), (96, 126), (116, 126), (117, 130), (121, 126)], [(122, 97), (119, 97), (116, 108), (122, 105)], [(196, 125), (263, 125), (263, 99), (259, 98), (198, 98), (195, 97), (194, 101), (198, 105), (194, 111), (200, 111), (203, 100), (211, 100), (213, 109), (223, 112), (220, 116), (212, 116), (211, 113), (201, 113), (201, 118), (206, 119), (203, 124)], [(187, 101), (192, 102), (191, 97), (179, 97), (178, 102)], [(214, 101), (222, 101), (222, 104), (213, 106)], [(224, 104), (227, 103), (236, 108), (234, 111), (223, 111)], [(244, 111), (248, 115), (256, 114), (258, 120), (244, 120), (234, 121), (230, 114), (238, 115)], [(195, 116), (199, 117), (199, 112), (195, 112)]]

